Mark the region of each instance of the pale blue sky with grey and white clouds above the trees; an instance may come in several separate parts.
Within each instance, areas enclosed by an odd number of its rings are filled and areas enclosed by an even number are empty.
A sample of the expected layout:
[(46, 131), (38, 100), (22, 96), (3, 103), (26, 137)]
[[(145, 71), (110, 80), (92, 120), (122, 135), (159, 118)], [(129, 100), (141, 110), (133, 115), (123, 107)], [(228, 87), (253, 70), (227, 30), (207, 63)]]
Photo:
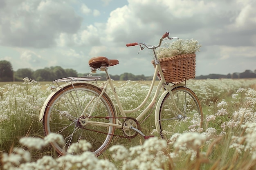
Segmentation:
[[(118, 59), (110, 74), (153, 75), (149, 50), (170, 37), (198, 40), (196, 75), (256, 69), (255, 0), (0, 0), (0, 60), (89, 73), (94, 56)], [(98, 72), (99, 73), (99, 72)]]

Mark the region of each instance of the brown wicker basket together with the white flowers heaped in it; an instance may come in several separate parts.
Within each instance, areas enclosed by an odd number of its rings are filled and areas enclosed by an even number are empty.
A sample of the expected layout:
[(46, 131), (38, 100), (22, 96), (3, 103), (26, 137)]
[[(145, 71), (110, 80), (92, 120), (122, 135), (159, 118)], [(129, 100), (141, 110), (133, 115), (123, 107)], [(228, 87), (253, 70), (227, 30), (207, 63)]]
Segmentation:
[[(177, 83), (195, 78), (195, 53), (202, 45), (197, 40), (182, 40), (165, 43), (157, 51), (157, 58), (166, 82)], [(155, 67), (155, 61), (151, 63)], [(158, 78), (161, 79), (159, 73)]]

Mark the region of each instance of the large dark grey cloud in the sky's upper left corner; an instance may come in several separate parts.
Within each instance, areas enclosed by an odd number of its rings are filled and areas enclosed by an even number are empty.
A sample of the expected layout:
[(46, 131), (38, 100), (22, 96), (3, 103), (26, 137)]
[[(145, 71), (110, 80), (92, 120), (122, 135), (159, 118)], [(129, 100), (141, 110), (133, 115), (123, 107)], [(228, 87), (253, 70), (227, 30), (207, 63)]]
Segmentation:
[(52, 47), (60, 33), (73, 34), (80, 29), (82, 18), (65, 2), (4, 1), (6, 6), (0, 10), (0, 45)]

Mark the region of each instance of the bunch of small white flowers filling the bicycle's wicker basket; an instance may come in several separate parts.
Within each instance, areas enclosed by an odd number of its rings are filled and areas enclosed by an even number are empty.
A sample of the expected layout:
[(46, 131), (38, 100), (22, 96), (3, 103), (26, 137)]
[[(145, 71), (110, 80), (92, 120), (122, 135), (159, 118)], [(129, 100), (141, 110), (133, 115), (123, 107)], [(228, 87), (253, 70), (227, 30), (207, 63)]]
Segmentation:
[(199, 44), (198, 41), (194, 39), (179, 39), (171, 43), (166, 42), (164, 43), (164, 47), (159, 48), (159, 51), (157, 51), (157, 58), (161, 59), (182, 54), (194, 54), (200, 51), (201, 46), (202, 44)]

